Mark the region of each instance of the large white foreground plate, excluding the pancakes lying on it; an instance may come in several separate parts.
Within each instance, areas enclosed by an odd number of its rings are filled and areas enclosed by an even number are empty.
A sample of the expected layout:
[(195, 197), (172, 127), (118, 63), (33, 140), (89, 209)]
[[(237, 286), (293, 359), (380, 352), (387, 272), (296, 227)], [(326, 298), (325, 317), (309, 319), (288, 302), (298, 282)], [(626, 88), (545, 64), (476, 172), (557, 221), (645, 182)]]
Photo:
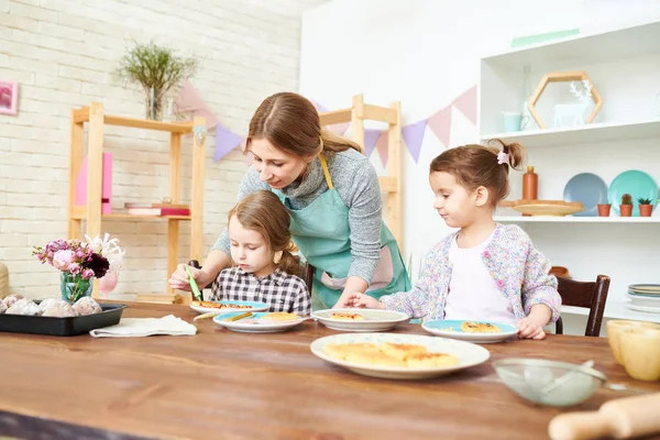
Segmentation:
[[(393, 343), (409, 343), (426, 345), (429, 352), (447, 353), (459, 359), (457, 365), (451, 366), (432, 366), (432, 367), (406, 367), (406, 366), (385, 366), (370, 365), (354, 362), (342, 361), (324, 353), (323, 349), (327, 343), (355, 343), (355, 342), (372, 342), (375, 344), (382, 342)], [(311, 352), (323, 361), (343, 366), (354, 373), (372, 377), (382, 378), (429, 378), (439, 377), (446, 374), (465, 370), (486, 362), (491, 358), (488, 350), (483, 346), (465, 341), (457, 341), (454, 339), (444, 339), (436, 337), (426, 337), (420, 334), (403, 334), (403, 333), (342, 333), (331, 337), (319, 338), (310, 345)]]

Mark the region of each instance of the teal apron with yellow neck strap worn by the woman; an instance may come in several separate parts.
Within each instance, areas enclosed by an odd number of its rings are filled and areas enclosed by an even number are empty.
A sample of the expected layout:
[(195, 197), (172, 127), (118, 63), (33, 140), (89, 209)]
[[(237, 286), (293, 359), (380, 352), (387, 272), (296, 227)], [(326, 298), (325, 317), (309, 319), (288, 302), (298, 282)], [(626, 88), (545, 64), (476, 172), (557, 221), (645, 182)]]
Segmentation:
[[(302, 209), (293, 209), (287, 198), (279, 191), (276, 193), (292, 216), (294, 243), (305, 260), (316, 268), (311, 289), (314, 310), (331, 308), (339, 300), (343, 292), (342, 283), (348, 277), (352, 261), (349, 208), (332, 185), (322, 154), (320, 160), (329, 189), (315, 201)], [(377, 299), (383, 295), (409, 290), (410, 279), (402, 254), (384, 222), (381, 223), (381, 251), (380, 268), (376, 272), (386, 275), (380, 284), (376, 283), (377, 279), (372, 279), (366, 294)], [(378, 285), (382, 287), (376, 288)]]

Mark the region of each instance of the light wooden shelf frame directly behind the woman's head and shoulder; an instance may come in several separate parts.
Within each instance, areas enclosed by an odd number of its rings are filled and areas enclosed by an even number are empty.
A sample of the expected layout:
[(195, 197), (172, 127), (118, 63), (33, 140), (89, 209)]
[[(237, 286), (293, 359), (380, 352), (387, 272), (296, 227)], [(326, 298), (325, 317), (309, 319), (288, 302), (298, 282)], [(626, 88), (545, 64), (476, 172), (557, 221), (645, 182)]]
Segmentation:
[(363, 95), (353, 96), (353, 105), (346, 109), (319, 113), (321, 125), (351, 122), (353, 141), (364, 152), (364, 121), (389, 124), (387, 176), (380, 176), (381, 190), (387, 194), (387, 227), (404, 253), (403, 188), (402, 188), (402, 105), (392, 102), (389, 108), (364, 103)]

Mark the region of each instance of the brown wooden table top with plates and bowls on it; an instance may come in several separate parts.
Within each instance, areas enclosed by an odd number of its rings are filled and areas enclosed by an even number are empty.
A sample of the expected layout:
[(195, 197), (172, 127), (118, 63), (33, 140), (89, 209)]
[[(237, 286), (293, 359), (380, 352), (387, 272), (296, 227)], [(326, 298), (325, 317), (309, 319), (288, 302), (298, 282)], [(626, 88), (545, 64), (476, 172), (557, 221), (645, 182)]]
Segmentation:
[[(169, 305), (124, 310), (127, 317), (169, 314), (196, 316)], [(560, 413), (517, 397), (491, 362), (437, 380), (378, 380), (311, 354), (311, 341), (336, 333), (314, 321), (270, 334), (235, 333), (211, 320), (197, 326), (195, 337), (0, 333), (0, 435), (15, 435), (10, 425), (19, 424), (31, 432), (79, 430), (76, 437), (86, 432), (86, 439), (534, 439), (547, 438)], [(415, 324), (396, 332), (425, 333)], [(549, 336), (484, 346), (492, 360), (594, 360), (610, 382), (660, 391), (630, 380), (605, 339)], [(578, 409), (628, 395), (602, 388)]]

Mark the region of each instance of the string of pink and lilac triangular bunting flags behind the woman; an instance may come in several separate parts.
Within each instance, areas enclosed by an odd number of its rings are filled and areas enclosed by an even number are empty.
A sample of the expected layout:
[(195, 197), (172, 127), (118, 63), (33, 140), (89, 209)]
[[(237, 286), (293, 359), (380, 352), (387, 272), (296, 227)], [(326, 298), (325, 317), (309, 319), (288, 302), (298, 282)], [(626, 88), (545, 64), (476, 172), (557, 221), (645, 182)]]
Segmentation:
[[(419, 161), (421, 152), (421, 145), (424, 144), (424, 134), (426, 128), (433, 132), (433, 134), (442, 142), (447, 147), (450, 145), (451, 139), (451, 122), (452, 122), (452, 109), (455, 107), (462, 114), (465, 116), (472, 123), (476, 124), (476, 100), (477, 90), (476, 86), (471, 87), (455, 98), (450, 106), (438, 110), (431, 117), (417, 121), (415, 123), (405, 125), (402, 128), (402, 135), (410, 155), (415, 163)], [(327, 112), (328, 109), (322, 105), (311, 101), (319, 113)], [(213, 112), (208, 106), (201, 100), (199, 94), (193, 87), (189, 81), (186, 81), (182, 88), (179, 96), (175, 100), (175, 111), (177, 113), (193, 113), (204, 116), (207, 120), (207, 129), (216, 129), (216, 162), (228, 155), (232, 150), (241, 145), (241, 148), (245, 150), (245, 136), (234, 133), (227, 127), (222, 125)], [(351, 125), (350, 122), (328, 125), (328, 129), (332, 132), (343, 135), (348, 128)], [(367, 156), (371, 156), (374, 150), (378, 151), (383, 165), (387, 164), (389, 156), (388, 151), (388, 133), (387, 130), (364, 130), (364, 151)], [(250, 165), (253, 162), (252, 154), (245, 155), (245, 162)]]

